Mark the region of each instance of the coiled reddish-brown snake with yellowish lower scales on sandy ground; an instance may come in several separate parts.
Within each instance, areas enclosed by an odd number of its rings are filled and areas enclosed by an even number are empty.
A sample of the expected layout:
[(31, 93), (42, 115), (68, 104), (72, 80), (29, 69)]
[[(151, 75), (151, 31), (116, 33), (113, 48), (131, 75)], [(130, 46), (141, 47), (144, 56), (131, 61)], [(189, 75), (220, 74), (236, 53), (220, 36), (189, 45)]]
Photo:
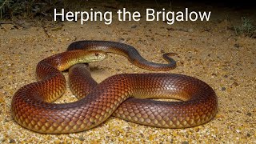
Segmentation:
[[(209, 122), (217, 113), (218, 99), (213, 88), (187, 75), (115, 74), (95, 82), (88, 66), (79, 63), (102, 61), (108, 53), (122, 54), (146, 70), (166, 71), (176, 66), (169, 54), (163, 55), (167, 64), (149, 62), (133, 46), (121, 42), (73, 42), (67, 51), (38, 62), (38, 82), (22, 86), (14, 94), (10, 110), (14, 121), (34, 132), (66, 134), (90, 130), (111, 115), (146, 126), (186, 128)], [(69, 68), (70, 88), (79, 99), (54, 103), (66, 90), (62, 71)], [(86, 97), (81, 96), (84, 94)]]

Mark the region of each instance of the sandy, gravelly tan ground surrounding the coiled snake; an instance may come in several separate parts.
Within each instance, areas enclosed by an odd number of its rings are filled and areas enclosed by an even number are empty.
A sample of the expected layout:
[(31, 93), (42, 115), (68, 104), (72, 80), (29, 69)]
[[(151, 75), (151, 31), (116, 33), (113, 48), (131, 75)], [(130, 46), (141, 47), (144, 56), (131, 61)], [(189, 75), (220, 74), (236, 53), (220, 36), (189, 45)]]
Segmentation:
[[(191, 9), (193, 6), (190, 7)], [(144, 9), (144, 8), (141, 8)], [(177, 6), (176, 9), (182, 9)], [(255, 143), (256, 142), (256, 39), (237, 36), (232, 30), (242, 16), (256, 22), (255, 11), (206, 6), (209, 22), (46, 22), (23, 28), (0, 27), (0, 143)], [(91, 130), (77, 134), (38, 134), (26, 130), (10, 115), (14, 93), (36, 82), (35, 67), (43, 58), (66, 50), (78, 40), (124, 42), (138, 49), (144, 58), (164, 63), (162, 54), (178, 56), (176, 69), (167, 73), (186, 74), (208, 83), (218, 96), (218, 114), (208, 123), (186, 129), (141, 126), (111, 117)], [(126, 58), (109, 54), (91, 65), (97, 82), (114, 74), (149, 73)], [(64, 73), (66, 76), (66, 72)], [(58, 102), (75, 101), (67, 90)]]

